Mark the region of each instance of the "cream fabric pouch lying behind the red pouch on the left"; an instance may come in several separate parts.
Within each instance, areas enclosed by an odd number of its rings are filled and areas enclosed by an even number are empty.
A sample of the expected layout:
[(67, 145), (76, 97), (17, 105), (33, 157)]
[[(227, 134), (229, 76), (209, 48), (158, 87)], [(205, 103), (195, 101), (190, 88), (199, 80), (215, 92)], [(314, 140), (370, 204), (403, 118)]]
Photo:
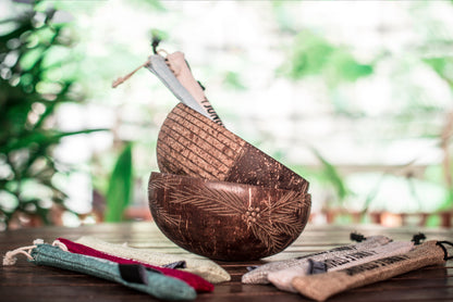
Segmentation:
[(162, 254), (147, 249), (134, 249), (121, 244), (109, 243), (94, 237), (82, 237), (76, 240), (76, 242), (109, 255), (136, 260), (157, 266), (184, 260), (187, 267), (182, 268), (182, 270), (198, 275), (212, 284), (224, 282), (231, 279), (231, 276), (226, 273), (226, 270), (207, 259), (181, 259), (180, 255)]

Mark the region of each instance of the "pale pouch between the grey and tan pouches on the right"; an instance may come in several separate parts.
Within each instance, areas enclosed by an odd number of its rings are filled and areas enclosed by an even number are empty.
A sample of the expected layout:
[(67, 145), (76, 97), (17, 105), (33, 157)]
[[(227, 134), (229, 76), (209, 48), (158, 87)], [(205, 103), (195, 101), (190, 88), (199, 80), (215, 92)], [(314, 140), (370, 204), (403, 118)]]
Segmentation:
[[(388, 244), (380, 246), (369, 250), (360, 250), (344, 255), (332, 255), (331, 257), (323, 260), (322, 263), (326, 264), (328, 272), (334, 272), (355, 265), (360, 265), (366, 262), (403, 254), (411, 251), (413, 247), (414, 243), (411, 241), (390, 242)], [(269, 273), (268, 280), (281, 290), (297, 292), (297, 290), (293, 288), (291, 282), (295, 277), (310, 275), (308, 272), (309, 266), (309, 259), (303, 259), (298, 264), (290, 268)]]

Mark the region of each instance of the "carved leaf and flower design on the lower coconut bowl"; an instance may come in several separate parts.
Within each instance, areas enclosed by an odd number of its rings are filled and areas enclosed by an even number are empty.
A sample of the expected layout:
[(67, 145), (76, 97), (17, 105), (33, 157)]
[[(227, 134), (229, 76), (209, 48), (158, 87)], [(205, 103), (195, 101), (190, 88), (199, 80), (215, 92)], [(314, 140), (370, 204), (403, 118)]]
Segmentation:
[[(159, 178), (150, 186), (155, 189), (170, 190), (176, 184), (177, 180), (171, 178)], [(199, 211), (219, 216), (238, 216), (244, 223), (244, 228), (252, 229), (254, 236), (267, 247), (268, 252), (281, 251), (287, 244), (289, 238), (295, 239), (305, 227), (310, 209), (309, 194), (287, 191), (273, 202), (256, 202), (250, 194), (249, 190), (247, 203), (237, 193), (192, 186), (177, 192), (173, 191), (170, 202), (189, 204)], [(161, 218), (174, 224), (175, 217), (162, 209), (157, 211)]]

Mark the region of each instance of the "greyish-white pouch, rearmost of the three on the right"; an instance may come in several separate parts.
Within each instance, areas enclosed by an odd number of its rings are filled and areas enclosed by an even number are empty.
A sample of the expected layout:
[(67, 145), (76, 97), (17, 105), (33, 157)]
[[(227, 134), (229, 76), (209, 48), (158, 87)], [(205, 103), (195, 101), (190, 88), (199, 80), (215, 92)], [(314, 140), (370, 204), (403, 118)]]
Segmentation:
[(360, 251), (365, 249), (372, 249), (385, 243), (389, 243), (391, 241), (390, 238), (384, 236), (370, 236), (360, 243), (350, 244), (345, 247), (339, 247), (332, 250), (314, 253), (304, 255), (302, 257), (291, 259), (291, 260), (284, 260), (284, 261), (278, 261), (278, 262), (270, 262), (265, 265), (259, 266), (258, 268), (255, 268), (252, 272), (248, 272), (247, 274), (244, 274), (242, 276), (242, 282), (243, 284), (255, 284), (255, 285), (265, 285), (269, 284), (268, 280), (268, 274), (270, 272), (277, 272), (281, 269), (289, 268), (291, 266), (297, 265), (297, 263), (301, 262), (301, 260), (306, 260), (308, 257), (313, 259), (314, 261), (323, 261), (328, 257), (334, 256), (334, 255), (344, 255), (346, 253), (351, 253), (354, 251)]

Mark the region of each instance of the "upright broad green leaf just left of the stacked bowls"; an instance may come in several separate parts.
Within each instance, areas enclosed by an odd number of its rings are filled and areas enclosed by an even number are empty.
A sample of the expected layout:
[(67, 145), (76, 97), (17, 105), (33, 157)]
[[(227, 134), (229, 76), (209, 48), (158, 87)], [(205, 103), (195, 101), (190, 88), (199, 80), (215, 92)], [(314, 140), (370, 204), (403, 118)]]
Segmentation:
[(117, 160), (107, 190), (106, 222), (121, 222), (124, 209), (132, 200), (132, 143), (126, 144)]

